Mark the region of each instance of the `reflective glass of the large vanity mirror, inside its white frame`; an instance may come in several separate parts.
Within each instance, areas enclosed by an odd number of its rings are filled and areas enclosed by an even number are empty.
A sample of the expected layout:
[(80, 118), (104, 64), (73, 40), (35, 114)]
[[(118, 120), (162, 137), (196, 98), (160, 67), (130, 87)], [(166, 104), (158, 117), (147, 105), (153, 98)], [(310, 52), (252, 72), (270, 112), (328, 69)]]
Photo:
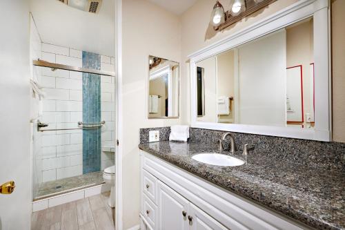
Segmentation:
[(197, 121), (314, 126), (313, 18), (197, 62)]

